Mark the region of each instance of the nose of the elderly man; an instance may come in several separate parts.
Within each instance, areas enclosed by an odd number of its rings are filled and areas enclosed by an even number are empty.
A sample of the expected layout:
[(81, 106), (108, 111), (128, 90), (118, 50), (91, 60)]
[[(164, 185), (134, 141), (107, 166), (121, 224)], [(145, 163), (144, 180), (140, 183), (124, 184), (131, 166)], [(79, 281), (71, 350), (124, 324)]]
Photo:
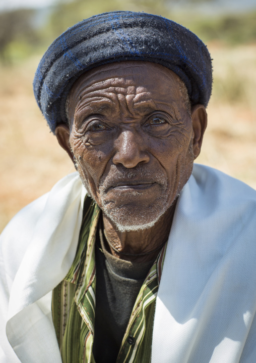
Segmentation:
[(115, 142), (113, 163), (122, 164), (125, 168), (134, 168), (139, 163), (147, 163), (149, 154), (145, 151), (145, 141), (136, 131), (124, 130)]

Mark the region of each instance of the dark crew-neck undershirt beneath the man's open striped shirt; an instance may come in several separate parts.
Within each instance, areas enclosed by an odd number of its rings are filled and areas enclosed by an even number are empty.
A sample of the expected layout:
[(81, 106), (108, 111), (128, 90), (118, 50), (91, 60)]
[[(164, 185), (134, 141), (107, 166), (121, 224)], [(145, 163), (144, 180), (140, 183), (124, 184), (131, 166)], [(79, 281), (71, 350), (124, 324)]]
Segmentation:
[(103, 236), (98, 229), (95, 250), (96, 310), (93, 355), (96, 363), (113, 363), (116, 361), (136, 298), (154, 260), (136, 263), (116, 258), (107, 251)]

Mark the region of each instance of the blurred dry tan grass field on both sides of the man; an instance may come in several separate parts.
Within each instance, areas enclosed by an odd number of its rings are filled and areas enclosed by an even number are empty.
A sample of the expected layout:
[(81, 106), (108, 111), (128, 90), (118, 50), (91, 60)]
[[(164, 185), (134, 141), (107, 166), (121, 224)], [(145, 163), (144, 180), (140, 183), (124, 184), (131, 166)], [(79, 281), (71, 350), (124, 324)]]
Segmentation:
[[(214, 89), (198, 162), (256, 189), (256, 44), (210, 44)], [(34, 100), (39, 58), (0, 68), (0, 231), (26, 204), (74, 167), (49, 132)]]

